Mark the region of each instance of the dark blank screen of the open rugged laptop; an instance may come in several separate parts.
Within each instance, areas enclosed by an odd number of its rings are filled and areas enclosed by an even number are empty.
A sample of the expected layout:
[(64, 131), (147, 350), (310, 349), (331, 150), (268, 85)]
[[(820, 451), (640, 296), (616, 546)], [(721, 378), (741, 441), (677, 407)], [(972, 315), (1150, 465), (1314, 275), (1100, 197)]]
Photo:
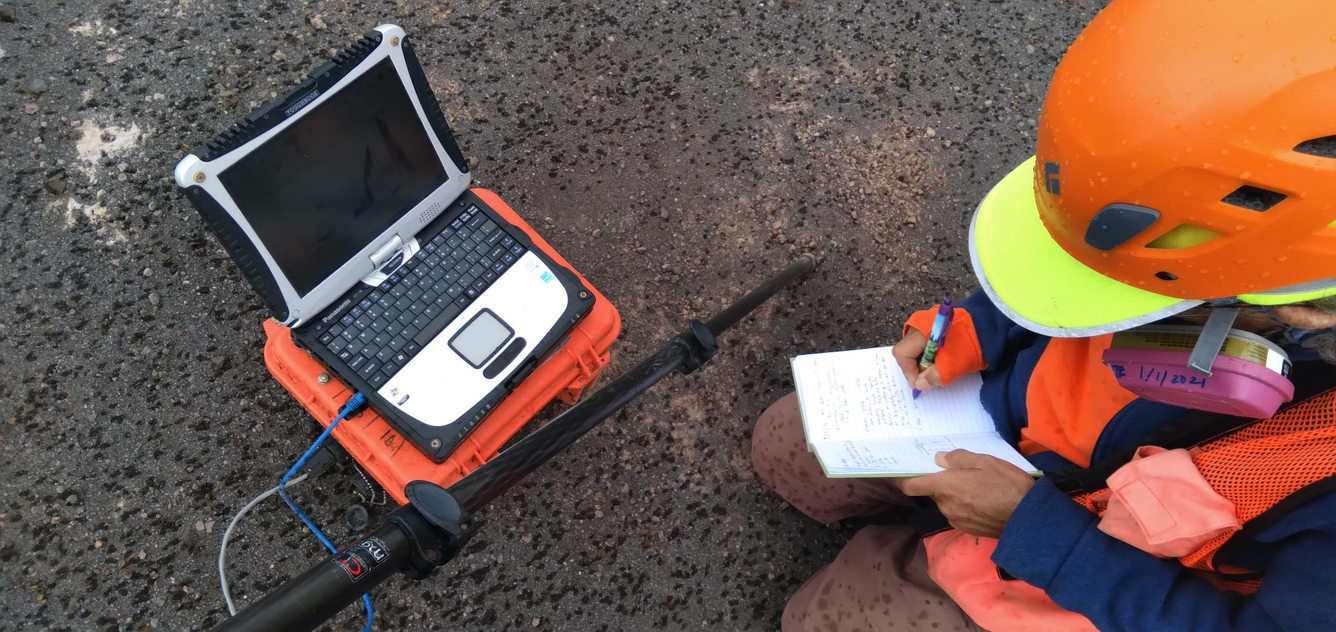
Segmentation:
[(306, 295), (448, 176), (386, 59), (219, 180)]

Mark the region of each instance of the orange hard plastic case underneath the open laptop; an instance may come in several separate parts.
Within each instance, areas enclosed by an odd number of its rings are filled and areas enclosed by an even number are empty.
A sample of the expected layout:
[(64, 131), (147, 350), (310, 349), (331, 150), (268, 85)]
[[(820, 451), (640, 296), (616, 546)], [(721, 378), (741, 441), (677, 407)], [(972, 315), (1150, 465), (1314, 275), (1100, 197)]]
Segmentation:
[[(558, 265), (574, 270), (497, 194), (485, 188), (474, 188), (473, 192), (525, 231), (534, 246)], [(497, 456), (501, 446), (552, 400), (560, 398), (566, 404), (574, 404), (612, 357), (609, 349), (621, 333), (621, 314), (584, 275), (580, 275), (580, 281), (595, 293), (593, 307), (570, 330), (565, 343), (552, 351), (514, 391), (502, 400), (496, 410), (460, 442), (445, 462), (433, 462), (371, 409), (339, 424), (334, 429), (334, 438), (399, 504), (405, 502), (403, 486), (411, 481), (433, 481), (449, 486), (473, 472)], [(269, 319), (265, 321), (265, 334), (269, 337), (265, 342), (265, 365), (269, 366), (270, 374), (315, 417), (315, 421), (329, 426), (338, 416), (339, 406), (353, 396), (351, 389), (314, 355), (298, 347), (289, 327)], [(321, 383), (321, 375), (327, 375), (326, 383)]]

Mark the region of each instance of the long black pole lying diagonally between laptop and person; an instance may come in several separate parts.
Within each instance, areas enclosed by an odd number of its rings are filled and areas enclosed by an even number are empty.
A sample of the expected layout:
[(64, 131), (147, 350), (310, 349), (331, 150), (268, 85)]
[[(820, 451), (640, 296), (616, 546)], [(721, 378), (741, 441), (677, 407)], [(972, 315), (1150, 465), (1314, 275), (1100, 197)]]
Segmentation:
[[(635, 369), (452, 485), (448, 497), (453, 497), (468, 512), (486, 505), (604, 420), (616, 414), (641, 393), (649, 390), (669, 373), (679, 369), (687, 373), (707, 361), (715, 350), (715, 335), (731, 329), (766, 299), (810, 273), (815, 266), (816, 257), (806, 254), (704, 325), (693, 321), (689, 331), (669, 339), (663, 349), (636, 365)], [(440, 490), (440, 488), (434, 489)], [(430, 550), (433, 555), (437, 552), (444, 555), (441, 540), (442, 534), (413, 505), (403, 505), (395, 509), (386, 524), (382, 524), (370, 536), (287, 581), (236, 616), (223, 621), (215, 631), (281, 629), (299, 632), (314, 629), (394, 573), (409, 572), (411, 575), (413, 569), (409, 567), (414, 548)], [(370, 565), (369, 556), (374, 557), (374, 552), (379, 549), (385, 549), (383, 560)], [(357, 557), (355, 560), (347, 559), (350, 552)], [(437, 557), (432, 557), (432, 560), (437, 560)], [(367, 568), (353, 573), (349, 564)], [(425, 576), (425, 572), (422, 575)]]

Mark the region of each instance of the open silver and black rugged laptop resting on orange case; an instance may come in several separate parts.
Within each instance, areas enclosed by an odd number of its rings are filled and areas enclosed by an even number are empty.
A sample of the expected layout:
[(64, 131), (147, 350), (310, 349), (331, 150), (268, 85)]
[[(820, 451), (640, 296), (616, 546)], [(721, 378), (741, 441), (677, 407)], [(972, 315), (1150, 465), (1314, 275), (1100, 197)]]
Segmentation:
[(395, 25), (176, 164), (274, 318), (438, 461), (595, 301), (469, 179)]

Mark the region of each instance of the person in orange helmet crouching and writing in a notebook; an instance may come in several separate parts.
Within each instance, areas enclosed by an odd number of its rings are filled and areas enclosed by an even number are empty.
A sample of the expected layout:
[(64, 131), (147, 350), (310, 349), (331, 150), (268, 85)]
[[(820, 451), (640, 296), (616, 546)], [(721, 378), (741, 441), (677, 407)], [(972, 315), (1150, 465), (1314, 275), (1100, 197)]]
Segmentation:
[[(827, 478), (795, 396), (754, 465), (811, 518), (859, 529), (786, 631), (1336, 629), (1336, 40), (1327, 3), (1114, 0), (1059, 63), (1035, 158), (970, 226), (982, 289), (921, 390), (982, 371), (998, 430), (1046, 476), (955, 450), (915, 478)], [(1234, 327), (1293, 359), (1265, 420), (1160, 404), (1101, 361), (1112, 334)], [(922, 501), (922, 498), (919, 498)], [(949, 526), (947, 526), (949, 525)], [(923, 536), (927, 536), (926, 538)]]

